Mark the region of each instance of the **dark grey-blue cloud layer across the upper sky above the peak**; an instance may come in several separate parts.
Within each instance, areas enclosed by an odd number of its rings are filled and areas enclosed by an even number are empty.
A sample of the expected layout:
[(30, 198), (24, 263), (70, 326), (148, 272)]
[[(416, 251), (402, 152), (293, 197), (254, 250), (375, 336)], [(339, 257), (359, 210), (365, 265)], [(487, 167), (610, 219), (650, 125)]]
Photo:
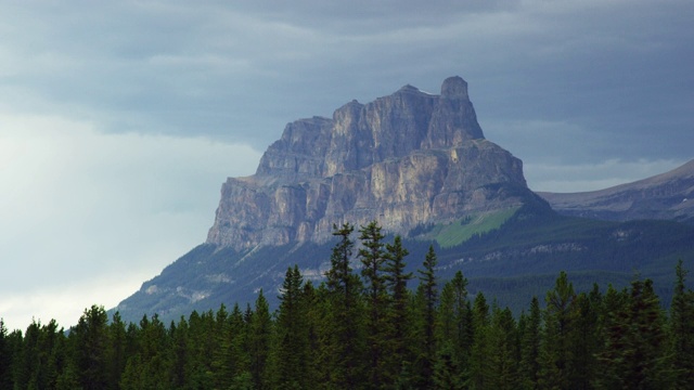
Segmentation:
[(488, 138), (512, 152), (520, 143), (549, 153), (532, 147), (532, 129), (516, 136), (500, 123), (556, 121), (587, 134), (578, 140), (587, 150), (566, 151), (567, 161), (689, 154), (681, 139), (693, 119), (691, 2), (36, 8), (15, 6), (11, 24), (23, 36), (11, 51), (36, 68), (4, 83), (100, 116), (110, 131), (202, 134), (262, 150), (299, 117), (330, 116), (404, 83), (436, 93), (444, 78), (461, 75), (483, 128), (498, 136)]

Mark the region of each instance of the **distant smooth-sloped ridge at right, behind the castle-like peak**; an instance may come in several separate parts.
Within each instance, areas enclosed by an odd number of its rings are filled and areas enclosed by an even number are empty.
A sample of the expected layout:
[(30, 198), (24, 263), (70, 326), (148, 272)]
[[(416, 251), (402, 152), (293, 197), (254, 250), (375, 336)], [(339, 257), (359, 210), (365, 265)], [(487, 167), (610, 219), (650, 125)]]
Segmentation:
[(694, 223), (694, 160), (633, 183), (582, 193), (542, 193), (566, 216), (612, 221), (663, 219)]

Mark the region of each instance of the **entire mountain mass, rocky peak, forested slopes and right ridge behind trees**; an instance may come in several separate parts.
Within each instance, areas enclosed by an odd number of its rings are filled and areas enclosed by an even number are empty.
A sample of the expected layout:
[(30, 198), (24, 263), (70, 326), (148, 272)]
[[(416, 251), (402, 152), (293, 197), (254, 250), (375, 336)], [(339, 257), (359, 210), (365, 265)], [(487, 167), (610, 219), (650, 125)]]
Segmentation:
[(471, 291), (512, 308), (527, 307), (561, 270), (578, 288), (626, 285), (641, 272), (667, 298), (676, 261), (694, 260), (694, 226), (681, 223), (692, 221), (693, 166), (538, 196), (522, 161), (484, 138), (462, 78), (446, 79), (438, 95), (406, 86), (333, 118), (288, 123), (254, 176), (222, 185), (207, 242), (114, 310), (134, 322), (144, 313), (175, 320), (252, 302), (260, 289), (272, 302), (287, 266), (320, 283), (334, 224), (373, 220), (388, 239), (406, 238), (411, 270), (434, 245), (440, 278), (462, 270)]

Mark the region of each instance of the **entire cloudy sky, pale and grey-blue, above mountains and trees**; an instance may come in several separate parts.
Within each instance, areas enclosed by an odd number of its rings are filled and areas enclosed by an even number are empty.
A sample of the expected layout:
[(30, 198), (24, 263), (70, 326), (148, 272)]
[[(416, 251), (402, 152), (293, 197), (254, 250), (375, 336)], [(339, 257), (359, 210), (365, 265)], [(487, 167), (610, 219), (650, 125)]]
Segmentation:
[(537, 191), (694, 158), (694, 2), (0, 0), (0, 317), (75, 324), (205, 240), (284, 126), (461, 76)]

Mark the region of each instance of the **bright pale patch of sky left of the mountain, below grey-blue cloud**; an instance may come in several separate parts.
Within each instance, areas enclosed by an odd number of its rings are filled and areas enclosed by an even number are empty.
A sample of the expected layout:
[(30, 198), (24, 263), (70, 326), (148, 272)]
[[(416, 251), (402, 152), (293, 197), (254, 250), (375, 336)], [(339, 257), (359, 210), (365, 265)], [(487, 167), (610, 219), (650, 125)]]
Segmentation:
[[(0, 276), (0, 316), (9, 325), (30, 311), (70, 325), (85, 302), (115, 306), (205, 240), (224, 178), (250, 174), (259, 160), (248, 146), (203, 138), (99, 133), (60, 117), (2, 114), (0, 122), (0, 259), (12, 270)], [(91, 280), (111, 282), (80, 294)], [(63, 298), (70, 302), (56, 303)]]

